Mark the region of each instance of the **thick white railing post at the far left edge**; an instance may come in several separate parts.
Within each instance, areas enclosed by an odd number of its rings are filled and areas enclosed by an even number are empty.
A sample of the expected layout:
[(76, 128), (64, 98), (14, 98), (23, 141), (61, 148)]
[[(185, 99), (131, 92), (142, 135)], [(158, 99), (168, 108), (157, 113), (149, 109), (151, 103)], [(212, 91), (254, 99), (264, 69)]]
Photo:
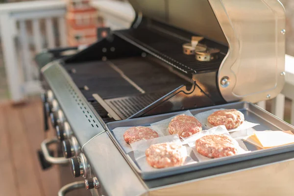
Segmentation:
[(0, 14), (0, 34), (3, 57), (5, 63), (5, 71), (10, 89), (11, 98), (18, 102), (24, 99), (22, 90), (22, 78), (19, 72), (17, 52), (14, 45), (14, 30), (12, 25), (15, 25), (13, 20), (10, 20), (9, 13)]

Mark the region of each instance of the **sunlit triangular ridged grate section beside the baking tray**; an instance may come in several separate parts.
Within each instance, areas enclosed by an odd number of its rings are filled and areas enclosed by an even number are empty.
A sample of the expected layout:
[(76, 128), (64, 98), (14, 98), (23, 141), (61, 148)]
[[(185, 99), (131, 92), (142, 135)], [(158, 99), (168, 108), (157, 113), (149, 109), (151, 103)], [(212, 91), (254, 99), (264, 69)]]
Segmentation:
[(168, 92), (142, 94), (138, 96), (106, 99), (105, 102), (122, 118), (127, 119)]

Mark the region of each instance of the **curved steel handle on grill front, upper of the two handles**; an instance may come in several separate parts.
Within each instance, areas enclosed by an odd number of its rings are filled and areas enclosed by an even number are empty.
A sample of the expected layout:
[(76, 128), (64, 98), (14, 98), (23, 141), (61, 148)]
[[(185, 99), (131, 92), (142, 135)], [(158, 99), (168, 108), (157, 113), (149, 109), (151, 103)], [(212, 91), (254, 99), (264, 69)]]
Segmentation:
[(57, 143), (58, 139), (57, 138), (52, 138), (52, 139), (45, 139), (42, 143), (41, 143), (41, 150), (44, 154), (44, 158), (46, 161), (48, 161), (51, 164), (68, 164), (69, 163), (69, 159), (64, 158), (64, 157), (52, 157), (49, 154), (49, 150), (48, 150), (48, 145), (50, 144), (54, 144)]

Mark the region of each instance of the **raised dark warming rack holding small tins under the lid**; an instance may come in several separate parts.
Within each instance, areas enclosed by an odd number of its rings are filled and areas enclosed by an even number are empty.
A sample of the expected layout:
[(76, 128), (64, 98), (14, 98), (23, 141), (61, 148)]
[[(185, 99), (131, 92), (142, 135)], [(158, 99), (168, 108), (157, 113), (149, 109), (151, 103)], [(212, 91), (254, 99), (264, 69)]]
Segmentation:
[[(201, 62), (195, 59), (194, 55), (183, 54), (182, 45), (187, 43), (187, 40), (182, 40), (171, 35), (154, 30), (151, 27), (130, 28), (115, 32), (118, 36), (126, 39), (129, 42), (143, 46), (153, 53), (157, 58), (169, 62), (178, 70), (193, 74), (198, 72), (217, 71), (220, 68), (224, 54), (220, 54), (220, 58), (215, 61)], [(205, 40), (204, 40), (205, 42)], [(219, 44), (207, 40), (210, 47), (219, 48)], [(223, 47), (223, 46), (222, 46)]]

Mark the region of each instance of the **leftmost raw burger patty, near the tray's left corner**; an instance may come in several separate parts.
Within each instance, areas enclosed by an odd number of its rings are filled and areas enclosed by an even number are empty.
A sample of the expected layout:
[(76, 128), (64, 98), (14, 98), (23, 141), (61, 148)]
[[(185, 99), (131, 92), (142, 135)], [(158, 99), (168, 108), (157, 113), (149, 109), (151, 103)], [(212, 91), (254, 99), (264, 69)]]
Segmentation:
[(123, 134), (123, 139), (128, 144), (152, 138), (158, 138), (158, 133), (146, 126), (131, 127), (127, 129)]

